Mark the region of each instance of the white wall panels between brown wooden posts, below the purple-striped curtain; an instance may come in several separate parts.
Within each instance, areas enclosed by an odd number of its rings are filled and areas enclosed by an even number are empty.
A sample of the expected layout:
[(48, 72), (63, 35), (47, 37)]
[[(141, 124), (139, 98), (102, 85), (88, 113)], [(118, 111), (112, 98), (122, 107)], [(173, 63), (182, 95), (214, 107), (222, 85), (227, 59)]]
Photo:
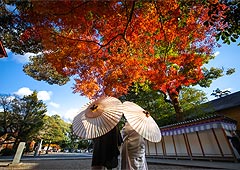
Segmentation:
[[(189, 142), (190, 152), (192, 153), (192, 157), (224, 157), (224, 158), (233, 158), (231, 151), (231, 146), (226, 139), (225, 132), (222, 129), (214, 129), (217, 140), (214, 136), (212, 129), (199, 131), (198, 135), (200, 138), (200, 142), (197, 136), (197, 132), (185, 133), (186, 141), (184, 140), (184, 135), (174, 135), (174, 136), (162, 136), (162, 141), (158, 143), (152, 143), (147, 141), (146, 144), (146, 155), (159, 155), (159, 156), (174, 156), (174, 157), (191, 157), (187, 150), (187, 141)], [(228, 132), (227, 132), (228, 133)], [(176, 151), (174, 148), (174, 142), (176, 146)], [(201, 145), (202, 149), (201, 149)], [(219, 144), (219, 145), (218, 145)], [(165, 147), (166, 154), (164, 154), (163, 150)], [(220, 148), (219, 148), (220, 147)], [(221, 151), (222, 154), (221, 154)]]

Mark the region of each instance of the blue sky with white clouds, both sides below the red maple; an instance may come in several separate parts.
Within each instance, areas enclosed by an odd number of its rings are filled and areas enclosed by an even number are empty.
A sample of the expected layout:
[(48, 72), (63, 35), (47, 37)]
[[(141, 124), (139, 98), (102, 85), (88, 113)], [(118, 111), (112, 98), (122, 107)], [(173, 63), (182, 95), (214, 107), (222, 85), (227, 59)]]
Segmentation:
[[(240, 47), (237, 44), (222, 45), (216, 48), (216, 57), (211, 60), (207, 67), (235, 68), (236, 72), (231, 76), (224, 76), (215, 80), (210, 88), (203, 88), (208, 99), (215, 99), (211, 96), (213, 90), (228, 89), (232, 93), (240, 91)], [(43, 81), (37, 81), (27, 76), (23, 71), (23, 64), (28, 61), (30, 54), (24, 56), (14, 55), (7, 50), (8, 57), (0, 58), (0, 94), (18, 94), (20, 96), (38, 91), (38, 98), (43, 100), (48, 107), (48, 115), (58, 114), (64, 120), (71, 121), (79, 112), (80, 108), (89, 102), (86, 97), (72, 93), (74, 82), (64, 86), (49, 85)]]

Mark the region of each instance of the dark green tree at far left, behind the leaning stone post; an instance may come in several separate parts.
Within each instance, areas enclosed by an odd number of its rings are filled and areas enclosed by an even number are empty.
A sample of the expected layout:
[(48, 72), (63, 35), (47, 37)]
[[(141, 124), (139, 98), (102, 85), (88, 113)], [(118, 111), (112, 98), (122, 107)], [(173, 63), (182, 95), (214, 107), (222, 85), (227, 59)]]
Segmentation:
[(4, 129), (3, 135), (8, 134), (14, 139), (13, 148), (16, 149), (20, 141), (28, 143), (35, 138), (42, 128), (47, 109), (46, 105), (38, 100), (36, 91), (23, 98), (15, 96), (9, 101), (9, 107), (1, 113), (3, 124), (0, 126)]

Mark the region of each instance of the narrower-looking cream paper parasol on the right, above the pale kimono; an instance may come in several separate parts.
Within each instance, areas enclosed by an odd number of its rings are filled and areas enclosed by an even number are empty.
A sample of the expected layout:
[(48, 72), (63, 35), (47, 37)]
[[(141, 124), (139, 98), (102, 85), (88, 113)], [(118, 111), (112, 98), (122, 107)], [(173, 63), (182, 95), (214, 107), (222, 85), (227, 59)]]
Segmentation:
[(133, 102), (126, 101), (123, 103), (123, 114), (129, 125), (146, 140), (161, 141), (161, 131), (148, 111)]

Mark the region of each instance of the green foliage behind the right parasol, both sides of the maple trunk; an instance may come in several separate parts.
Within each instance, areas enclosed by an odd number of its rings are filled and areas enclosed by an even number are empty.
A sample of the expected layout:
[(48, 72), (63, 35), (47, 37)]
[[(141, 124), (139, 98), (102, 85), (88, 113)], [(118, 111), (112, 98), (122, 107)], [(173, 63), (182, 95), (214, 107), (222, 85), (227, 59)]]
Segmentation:
[[(134, 84), (131, 90), (121, 96), (122, 101), (132, 101), (140, 105), (151, 113), (159, 126), (176, 123), (176, 114), (171, 100), (165, 98), (165, 94), (159, 90), (153, 90), (149, 84)], [(202, 90), (190, 87), (183, 87), (179, 95), (180, 104), (183, 110), (191, 110), (196, 106), (207, 101), (206, 94)], [(184, 112), (186, 118), (195, 118), (202, 116), (202, 113), (196, 111), (193, 113)]]

